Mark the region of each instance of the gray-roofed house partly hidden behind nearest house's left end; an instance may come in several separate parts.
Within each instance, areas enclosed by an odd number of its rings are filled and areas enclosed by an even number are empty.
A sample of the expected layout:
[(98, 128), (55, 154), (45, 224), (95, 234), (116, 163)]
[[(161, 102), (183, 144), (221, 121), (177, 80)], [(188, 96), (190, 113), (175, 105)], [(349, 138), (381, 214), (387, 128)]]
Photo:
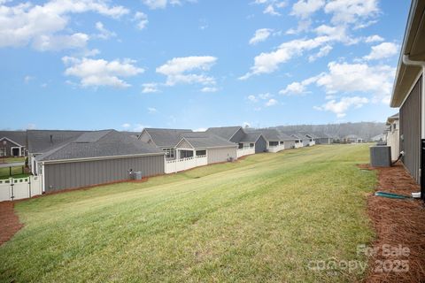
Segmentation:
[(27, 130), (28, 167), (34, 175), (38, 168), (35, 166), (35, 157), (55, 149), (59, 145), (73, 141), (87, 131), (62, 131), (62, 130)]

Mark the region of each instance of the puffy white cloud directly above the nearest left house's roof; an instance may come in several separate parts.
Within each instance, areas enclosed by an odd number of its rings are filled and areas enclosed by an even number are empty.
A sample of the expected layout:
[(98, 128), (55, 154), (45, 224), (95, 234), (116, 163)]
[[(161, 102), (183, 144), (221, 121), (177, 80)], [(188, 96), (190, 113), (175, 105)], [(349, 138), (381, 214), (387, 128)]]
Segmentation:
[(144, 71), (130, 59), (108, 62), (104, 59), (63, 57), (62, 60), (68, 65), (65, 74), (79, 78), (81, 87), (128, 88), (130, 84), (120, 77), (131, 77)]

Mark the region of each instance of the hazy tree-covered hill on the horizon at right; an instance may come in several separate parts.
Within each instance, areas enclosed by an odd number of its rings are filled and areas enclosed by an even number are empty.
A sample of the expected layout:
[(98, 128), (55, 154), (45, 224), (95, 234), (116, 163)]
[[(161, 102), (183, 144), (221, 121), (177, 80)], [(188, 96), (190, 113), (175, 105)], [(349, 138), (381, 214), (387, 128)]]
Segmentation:
[(385, 131), (385, 123), (359, 122), (359, 123), (342, 123), (328, 125), (293, 125), (293, 126), (275, 126), (284, 131), (324, 133), (335, 137), (343, 138), (349, 134), (356, 134), (359, 137), (370, 141), (372, 137), (383, 134)]

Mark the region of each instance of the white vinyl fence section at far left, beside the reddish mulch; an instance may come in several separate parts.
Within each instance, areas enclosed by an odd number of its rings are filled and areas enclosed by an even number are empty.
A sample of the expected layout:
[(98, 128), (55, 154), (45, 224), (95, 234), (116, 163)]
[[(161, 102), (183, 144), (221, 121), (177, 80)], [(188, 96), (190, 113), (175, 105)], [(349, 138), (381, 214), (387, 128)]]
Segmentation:
[(0, 180), (0, 202), (42, 195), (42, 176)]

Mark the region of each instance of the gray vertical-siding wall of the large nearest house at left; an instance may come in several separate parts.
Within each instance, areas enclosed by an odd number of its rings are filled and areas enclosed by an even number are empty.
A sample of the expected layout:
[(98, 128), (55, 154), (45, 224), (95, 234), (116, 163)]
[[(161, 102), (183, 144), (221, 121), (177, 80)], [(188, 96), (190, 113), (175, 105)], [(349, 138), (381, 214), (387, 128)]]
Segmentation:
[(127, 180), (128, 170), (142, 172), (143, 177), (164, 173), (164, 156), (128, 157), (85, 162), (45, 164), (46, 192)]

